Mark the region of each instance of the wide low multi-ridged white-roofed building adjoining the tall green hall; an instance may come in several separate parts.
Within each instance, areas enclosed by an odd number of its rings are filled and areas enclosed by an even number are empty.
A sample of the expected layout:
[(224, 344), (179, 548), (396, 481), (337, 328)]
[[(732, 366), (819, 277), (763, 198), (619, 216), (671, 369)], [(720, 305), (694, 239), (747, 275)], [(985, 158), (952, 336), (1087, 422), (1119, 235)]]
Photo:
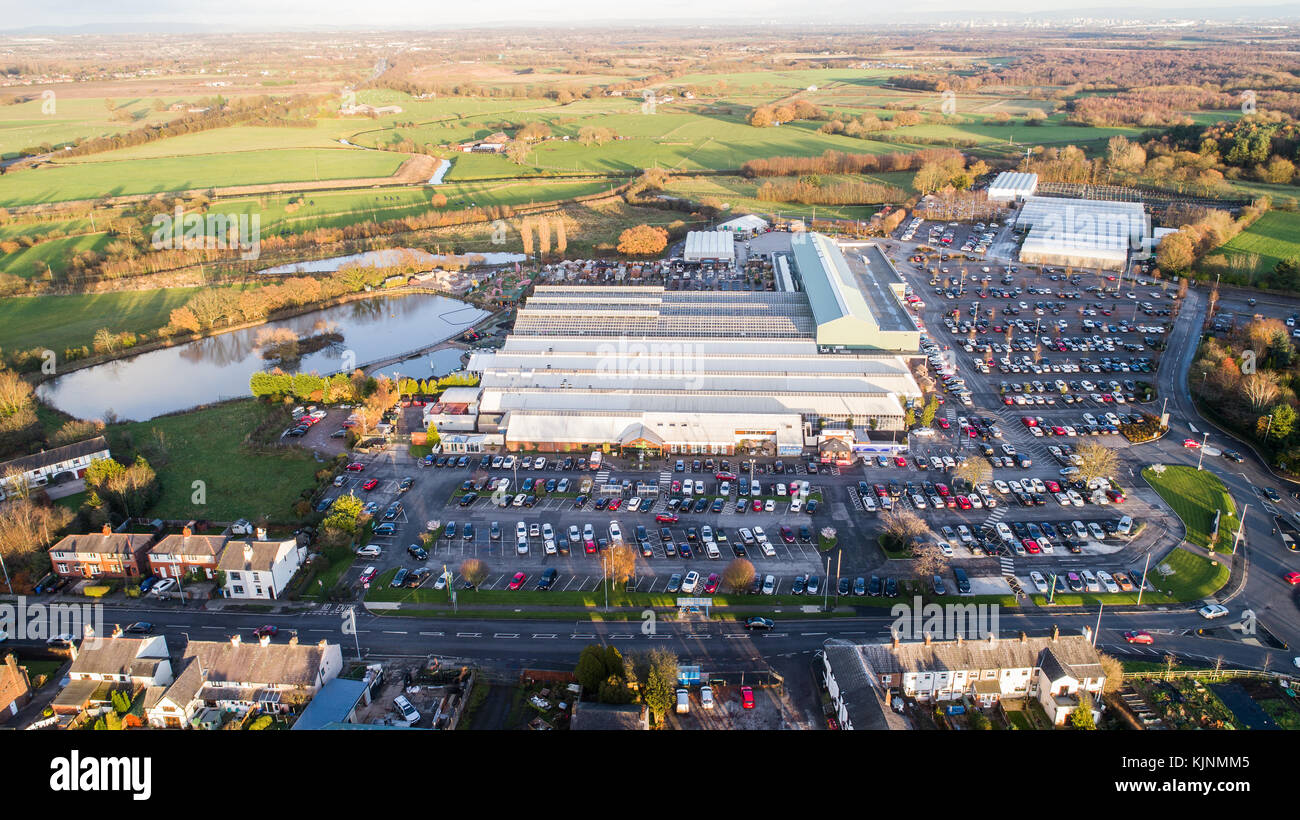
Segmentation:
[[(800, 265), (805, 285), (829, 275), (809, 265)], [(819, 311), (816, 300), (827, 299), (537, 287), (504, 346), (469, 360), (482, 376), (480, 431), (542, 452), (798, 455), (822, 422), (902, 429), (904, 400), (920, 395), (902, 351), (857, 344), (844, 324), (853, 313)], [(845, 352), (826, 352), (824, 334), (845, 342), (835, 346)]]

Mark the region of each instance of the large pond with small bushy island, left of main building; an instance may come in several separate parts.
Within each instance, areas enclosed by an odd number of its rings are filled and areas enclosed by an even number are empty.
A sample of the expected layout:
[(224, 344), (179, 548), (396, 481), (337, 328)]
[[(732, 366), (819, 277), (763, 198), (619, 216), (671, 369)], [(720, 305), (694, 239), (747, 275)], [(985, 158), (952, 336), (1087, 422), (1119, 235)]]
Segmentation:
[[(356, 366), (373, 370), (367, 365), (455, 337), (485, 316), (486, 311), (434, 294), (376, 296), (74, 370), (40, 385), (36, 395), (78, 418), (103, 418), (112, 411), (120, 420), (144, 421), (250, 395), (248, 377), (276, 366), (256, 346), (257, 334), (268, 327), (307, 337), (325, 322), (342, 334), (343, 342), (283, 368), (324, 374)], [(445, 350), (382, 369), (426, 378), (459, 366), (460, 351)], [(439, 368), (445, 370), (437, 373)]]

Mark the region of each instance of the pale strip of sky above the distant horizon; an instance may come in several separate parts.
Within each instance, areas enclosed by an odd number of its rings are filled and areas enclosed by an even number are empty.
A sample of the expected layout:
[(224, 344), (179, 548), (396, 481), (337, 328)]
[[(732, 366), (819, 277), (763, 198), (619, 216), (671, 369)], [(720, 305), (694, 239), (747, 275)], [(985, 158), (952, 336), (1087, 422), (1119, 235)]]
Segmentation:
[(884, 0), (819, 0), (816, 4), (790, 0), (656, 0), (653, 4), (610, 3), (608, 0), (489, 0), (450, 3), (447, 0), (387, 0), (359, 4), (355, 0), (222, 0), (220, 3), (172, 3), (159, 0), (62, 0), (25, 3), (10, 9), (0, 30), (91, 29), (122, 31), (166, 29), (174, 31), (213, 30), (320, 30), (406, 29), (433, 30), (439, 26), (536, 26), (582, 23), (636, 23), (660, 21), (705, 23), (716, 21), (763, 23), (779, 21), (840, 22), (871, 25), (898, 19), (966, 19), (972, 12), (989, 14), (1052, 14), (1061, 17), (1079, 9), (1089, 17), (1127, 17), (1141, 10), (1150, 16), (1196, 17), (1214, 9), (1251, 17), (1300, 17), (1300, 3), (1278, 4), (1260, 0), (1231, 4), (1225, 0), (911, 0), (900, 5)]

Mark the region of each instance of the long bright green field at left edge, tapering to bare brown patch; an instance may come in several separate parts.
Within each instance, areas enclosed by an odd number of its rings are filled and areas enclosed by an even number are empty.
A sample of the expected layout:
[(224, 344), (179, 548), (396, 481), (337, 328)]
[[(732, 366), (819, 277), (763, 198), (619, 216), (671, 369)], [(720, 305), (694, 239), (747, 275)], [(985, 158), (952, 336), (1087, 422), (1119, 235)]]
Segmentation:
[(391, 175), (400, 153), (358, 148), (248, 151), (64, 164), (0, 177), (0, 205), (185, 191), (231, 185)]

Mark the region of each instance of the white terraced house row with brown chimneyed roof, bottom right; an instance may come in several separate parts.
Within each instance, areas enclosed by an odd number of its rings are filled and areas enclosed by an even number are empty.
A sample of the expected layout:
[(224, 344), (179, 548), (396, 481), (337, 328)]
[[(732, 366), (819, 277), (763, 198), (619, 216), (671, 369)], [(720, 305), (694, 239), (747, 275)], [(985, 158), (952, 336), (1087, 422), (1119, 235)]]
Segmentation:
[(1092, 697), (1100, 717), (1101, 691), (1106, 682), (1101, 656), (1092, 643), (1092, 630), (1048, 637), (982, 641), (890, 643), (854, 647), (872, 686), (894, 689), (916, 700), (940, 702), (970, 698), (991, 707), (1002, 698), (1035, 698), (1057, 725), (1079, 706), (1079, 695)]

